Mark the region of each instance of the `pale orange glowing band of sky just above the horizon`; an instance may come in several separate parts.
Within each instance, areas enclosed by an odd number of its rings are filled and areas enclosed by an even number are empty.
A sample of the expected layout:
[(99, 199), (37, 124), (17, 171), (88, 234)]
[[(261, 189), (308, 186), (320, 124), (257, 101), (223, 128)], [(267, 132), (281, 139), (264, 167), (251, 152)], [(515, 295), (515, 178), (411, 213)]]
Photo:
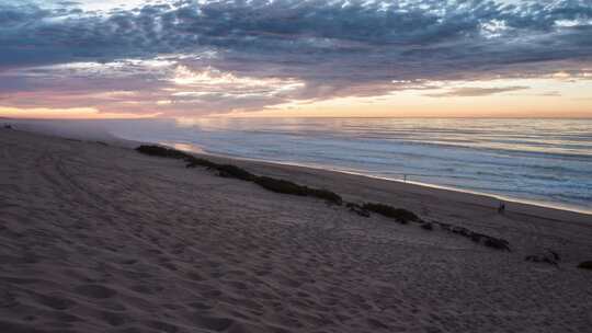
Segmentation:
[[(220, 81), (220, 80), (218, 80)], [(236, 90), (232, 78), (227, 84)], [(248, 84), (254, 84), (247, 81)], [(281, 84), (271, 81), (272, 84)], [(224, 90), (226, 82), (218, 82)], [(259, 85), (264, 82), (257, 83)], [(299, 84), (299, 83), (289, 83)], [(509, 88), (509, 89), (505, 89)], [(240, 89), (240, 87), (239, 87)], [(282, 89), (274, 87), (273, 89)], [(189, 94), (181, 87), (174, 95)], [(190, 88), (191, 90), (191, 88)], [(592, 117), (592, 80), (566, 78), (436, 82), (431, 89), (392, 90), (376, 96), (294, 101), (261, 110), (212, 112), (207, 116), (229, 117)], [(198, 93), (192, 91), (191, 93)], [(124, 96), (104, 110), (88, 107), (7, 107), (0, 116), (18, 118), (138, 118), (169, 116), (172, 100), (143, 101), (141, 92)], [(68, 99), (68, 96), (65, 96)], [(53, 96), (52, 100), (60, 100)]]

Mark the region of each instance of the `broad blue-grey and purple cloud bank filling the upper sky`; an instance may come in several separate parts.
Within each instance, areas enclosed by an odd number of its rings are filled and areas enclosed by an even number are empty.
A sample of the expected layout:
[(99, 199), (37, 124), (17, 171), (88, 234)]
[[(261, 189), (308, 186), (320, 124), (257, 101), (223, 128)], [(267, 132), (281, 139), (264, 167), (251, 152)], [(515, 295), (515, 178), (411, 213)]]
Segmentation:
[[(14, 99), (26, 92), (37, 94), (38, 104), (59, 93), (66, 106), (82, 102), (69, 96), (132, 90), (138, 103), (126, 108), (149, 108), (151, 102), (170, 115), (192, 115), (380, 95), (397, 89), (394, 80), (539, 77), (592, 62), (588, 0), (162, 0), (135, 9), (83, 9), (83, 1), (0, 1), (1, 101), (26, 104)], [(175, 100), (180, 87), (171, 78), (180, 68), (270, 87), (251, 94), (193, 87), (193, 99)], [(299, 85), (276, 91), (277, 82)], [(89, 103), (124, 107), (101, 99)]]

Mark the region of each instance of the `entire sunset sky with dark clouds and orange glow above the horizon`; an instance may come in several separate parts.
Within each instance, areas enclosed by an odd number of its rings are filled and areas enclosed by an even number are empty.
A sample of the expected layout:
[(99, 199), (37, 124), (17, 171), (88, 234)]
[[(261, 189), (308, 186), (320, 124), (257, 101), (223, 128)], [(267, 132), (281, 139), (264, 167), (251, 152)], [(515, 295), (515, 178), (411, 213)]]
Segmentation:
[(0, 0), (0, 116), (592, 117), (592, 0)]

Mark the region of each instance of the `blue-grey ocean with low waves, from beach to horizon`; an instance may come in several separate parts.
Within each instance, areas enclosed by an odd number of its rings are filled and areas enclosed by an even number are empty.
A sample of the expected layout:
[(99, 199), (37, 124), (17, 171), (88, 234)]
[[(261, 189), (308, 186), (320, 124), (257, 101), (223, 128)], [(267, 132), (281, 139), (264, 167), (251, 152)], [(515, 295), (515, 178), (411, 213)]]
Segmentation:
[(109, 120), (184, 149), (420, 182), (592, 210), (592, 119)]

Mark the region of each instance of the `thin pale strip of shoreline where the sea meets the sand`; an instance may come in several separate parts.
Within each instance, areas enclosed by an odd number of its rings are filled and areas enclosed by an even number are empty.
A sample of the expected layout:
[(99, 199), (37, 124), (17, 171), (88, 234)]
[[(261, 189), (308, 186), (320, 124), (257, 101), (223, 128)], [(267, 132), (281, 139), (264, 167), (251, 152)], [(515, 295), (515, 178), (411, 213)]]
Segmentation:
[[(510, 204), (519, 204), (519, 205), (527, 205), (527, 206), (534, 206), (542, 209), (553, 209), (553, 210), (560, 210), (560, 211), (569, 211), (573, 214), (580, 214), (580, 215), (588, 215), (590, 218), (592, 218), (592, 208), (585, 209), (583, 207), (573, 207), (569, 205), (561, 205), (561, 204), (554, 204), (548, 202), (539, 202), (534, 199), (522, 199), (522, 198), (515, 198), (512, 196), (501, 195), (501, 194), (491, 194), (491, 193), (485, 193), (485, 192), (478, 192), (478, 191), (470, 191), (470, 190), (464, 190), (453, 186), (445, 186), (445, 185), (437, 185), (437, 184), (430, 184), (424, 182), (415, 182), (415, 181), (402, 181), (398, 179), (390, 179), (379, 175), (372, 175), (363, 172), (356, 172), (356, 171), (346, 171), (346, 170), (340, 170), (334, 169), (330, 166), (323, 166), (323, 165), (307, 165), (301, 163), (293, 163), (293, 162), (282, 162), (282, 161), (270, 161), (270, 160), (261, 160), (261, 159), (252, 159), (252, 158), (243, 158), (238, 156), (231, 156), (231, 154), (219, 154), (207, 151), (207, 148), (201, 147), (197, 145), (192, 143), (169, 143), (169, 142), (144, 142), (144, 143), (150, 143), (150, 145), (162, 145), (170, 148), (179, 149), (192, 154), (196, 156), (207, 156), (213, 158), (220, 158), (220, 159), (227, 159), (230, 161), (247, 161), (247, 162), (255, 162), (255, 163), (265, 163), (265, 164), (272, 164), (272, 165), (283, 165), (283, 166), (293, 166), (293, 168), (306, 168), (315, 171), (321, 171), (321, 172), (334, 172), (339, 174), (349, 174), (349, 175), (356, 175), (373, 180), (380, 180), (385, 182), (395, 182), (400, 184), (408, 184), (408, 185), (414, 185), (414, 186), (421, 186), (425, 188), (434, 188), (434, 190), (441, 190), (441, 191), (448, 191), (448, 192), (456, 192), (456, 193), (463, 193), (468, 195), (475, 195), (475, 196), (483, 196), (488, 197), (493, 200), (498, 202), (504, 202)], [(330, 188), (329, 188), (330, 190)]]

